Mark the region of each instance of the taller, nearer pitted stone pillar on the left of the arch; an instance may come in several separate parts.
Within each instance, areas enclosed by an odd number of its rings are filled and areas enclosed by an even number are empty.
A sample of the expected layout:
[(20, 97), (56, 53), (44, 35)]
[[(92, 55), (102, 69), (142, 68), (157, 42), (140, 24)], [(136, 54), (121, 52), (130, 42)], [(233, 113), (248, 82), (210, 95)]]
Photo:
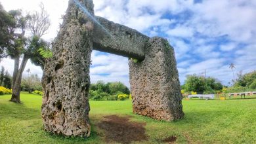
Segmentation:
[[(92, 0), (79, 3), (94, 15)], [(88, 137), (91, 131), (89, 66), (93, 49), (93, 23), (77, 6), (70, 1), (53, 42), (53, 58), (45, 64), (41, 113), (46, 131)]]

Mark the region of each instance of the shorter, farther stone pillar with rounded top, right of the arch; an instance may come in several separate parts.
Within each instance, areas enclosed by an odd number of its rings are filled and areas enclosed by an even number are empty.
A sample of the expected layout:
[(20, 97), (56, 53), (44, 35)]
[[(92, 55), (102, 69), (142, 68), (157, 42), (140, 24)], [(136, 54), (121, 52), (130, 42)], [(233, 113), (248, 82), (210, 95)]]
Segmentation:
[(175, 54), (167, 40), (151, 38), (145, 60), (129, 60), (129, 69), (134, 113), (167, 121), (183, 117)]

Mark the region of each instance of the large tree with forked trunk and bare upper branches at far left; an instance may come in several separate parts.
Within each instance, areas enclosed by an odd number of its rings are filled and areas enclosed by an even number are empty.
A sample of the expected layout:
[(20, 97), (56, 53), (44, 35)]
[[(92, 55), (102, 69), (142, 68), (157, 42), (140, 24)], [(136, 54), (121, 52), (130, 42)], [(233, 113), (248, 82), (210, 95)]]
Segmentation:
[[(32, 59), (32, 63), (43, 68), (45, 58), (51, 55), (49, 44), (41, 39), (50, 24), (49, 14), (42, 3), (39, 11), (26, 16), (22, 14), (22, 10), (6, 12), (0, 5), (0, 58), (9, 56), (14, 60), (11, 98), (13, 102), (20, 103), (22, 73), (28, 60)], [(31, 35), (26, 37), (25, 33), (28, 32)]]

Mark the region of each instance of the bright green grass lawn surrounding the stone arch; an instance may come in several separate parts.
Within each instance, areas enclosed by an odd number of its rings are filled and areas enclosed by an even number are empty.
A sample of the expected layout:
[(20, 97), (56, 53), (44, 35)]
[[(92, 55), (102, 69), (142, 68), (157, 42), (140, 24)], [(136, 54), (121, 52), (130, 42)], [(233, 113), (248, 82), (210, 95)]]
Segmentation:
[(131, 115), (133, 121), (146, 122), (146, 143), (160, 143), (171, 135), (177, 137), (176, 143), (256, 143), (255, 97), (184, 100), (185, 116), (177, 122), (135, 115), (131, 101), (90, 101), (92, 132), (89, 139), (44, 132), (41, 96), (23, 92), (23, 104), (11, 103), (10, 98), (10, 95), (0, 96), (0, 143), (103, 143), (103, 132), (96, 123), (106, 115)]

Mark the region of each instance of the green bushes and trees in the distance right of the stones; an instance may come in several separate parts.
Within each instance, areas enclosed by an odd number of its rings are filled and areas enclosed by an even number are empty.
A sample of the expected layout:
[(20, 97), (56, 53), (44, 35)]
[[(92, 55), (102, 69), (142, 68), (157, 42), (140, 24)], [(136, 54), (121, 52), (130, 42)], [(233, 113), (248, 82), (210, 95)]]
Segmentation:
[(256, 71), (237, 74), (237, 79), (233, 80), (232, 86), (224, 86), (213, 77), (202, 77), (200, 75), (187, 75), (186, 81), (181, 86), (182, 94), (217, 94), (230, 92), (256, 91)]

